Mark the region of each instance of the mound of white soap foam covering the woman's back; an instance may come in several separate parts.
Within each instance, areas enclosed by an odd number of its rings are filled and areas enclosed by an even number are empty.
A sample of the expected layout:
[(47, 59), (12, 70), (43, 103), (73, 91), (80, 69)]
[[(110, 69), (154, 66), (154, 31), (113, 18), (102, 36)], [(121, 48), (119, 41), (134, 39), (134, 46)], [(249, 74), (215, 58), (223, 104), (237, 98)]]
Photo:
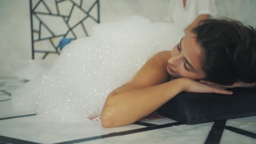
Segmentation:
[(171, 23), (141, 16), (96, 25), (90, 37), (67, 45), (51, 69), (13, 93), (14, 111), (34, 110), (58, 121), (99, 116), (111, 91), (181, 36)]

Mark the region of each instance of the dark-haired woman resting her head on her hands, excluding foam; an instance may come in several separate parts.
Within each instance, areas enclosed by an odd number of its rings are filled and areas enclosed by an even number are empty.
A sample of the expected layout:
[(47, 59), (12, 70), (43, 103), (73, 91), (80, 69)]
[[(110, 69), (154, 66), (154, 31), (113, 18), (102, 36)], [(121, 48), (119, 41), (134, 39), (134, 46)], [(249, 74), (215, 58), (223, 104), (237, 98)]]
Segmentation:
[(181, 92), (232, 94), (225, 88), (255, 86), (255, 73), (255, 29), (230, 19), (202, 20), (172, 51), (156, 53), (108, 95), (101, 123), (131, 124)]

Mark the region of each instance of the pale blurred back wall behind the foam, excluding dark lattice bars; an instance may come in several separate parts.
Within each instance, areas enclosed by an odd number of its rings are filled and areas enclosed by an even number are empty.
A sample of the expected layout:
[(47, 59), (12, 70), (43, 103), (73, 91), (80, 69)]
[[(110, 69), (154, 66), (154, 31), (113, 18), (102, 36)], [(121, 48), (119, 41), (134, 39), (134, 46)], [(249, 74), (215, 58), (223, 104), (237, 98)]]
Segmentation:
[[(61, 0), (59, 0), (61, 1)], [(32, 6), (37, 4), (38, 0), (32, 0)], [(45, 4), (49, 6), (50, 9), (53, 8), (53, 13), (56, 11), (53, 0), (45, 0)], [(131, 15), (141, 15), (147, 17), (150, 21), (161, 22), (165, 21), (168, 10), (168, 0), (101, 0), (99, 7), (91, 7), (95, 3), (95, 0), (83, 1), (80, 0), (72, 1), (77, 3), (80, 7), (85, 10), (90, 10), (90, 15), (92, 17), (97, 17), (100, 14), (100, 22), (111, 22), (121, 17), (127, 17)], [(256, 1), (254, 0), (216, 0), (217, 7), (217, 17), (225, 16), (232, 19), (240, 20), (247, 25), (253, 27), (256, 26)], [(99, 11), (98, 9), (99, 8)], [(63, 15), (68, 15), (72, 9), (72, 4), (70, 1), (61, 2), (59, 4), (60, 13)], [(38, 11), (47, 11), (43, 4), (38, 5)], [(30, 65), (35, 61), (32, 59), (32, 43), (31, 43), (31, 18), (30, 18), (30, 1), (29, 0), (0, 0), (0, 76), (16, 76), (17, 71), (26, 65)], [(72, 16), (69, 24), (74, 26), (79, 22), (84, 15), (83, 11), (79, 8), (74, 7), (72, 11)], [(63, 25), (63, 20), (61, 19), (51, 19), (47, 15), (39, 15), (40, 19), (50, 27), (55, 29), (55, 33), (65, 33), (68, 27)], [(34, 20), (34, 27), (38, 25), (38, 22)], [(68, 17), (66, 17), (68, 19)], [(90, 18), (90, 17), (89, 17)], [(99, 21), (98, 21), (99, 22)], [(83, 21), (83, 25), (86, 28), (86, 33), (90, 35), (91, 28), (96, 25), (97, 21), (93, 19), (86, 19)], [(86, 37), (84, 33), (83, 26), (78, 26), (75, 29), (78, 34), (76, 38)], [(42, 28), (43, 31), (43, 28)], [(44, 30), (45, 31), (45, 30)], [(80, 33), (79, 33), (80, 32)], [(73, 37), (72, 34), (67, 34), (67, 36)], [(38, 37), (38, 33), (34, 32), (34, 40)], [(44, 37), (44, 35), (40, 35)], [(47, 37), (47, 35), (45, 35)], [(53, 43), (59, 44), (60, 39), (53, 39)], [(49, 48), (51, 44), (49, 43), (37, 43), (34, 44), (40, 49), (52, 49)], [(42, 60), (44, 53), (38, 53), (35, 55), (36, 61), (40, 62)], [(45, 61), (49, 63), (54, 61), (58, 55), (49, 54), (45, 57)], [(22, 63), (23, 62), (23, 63)], [(33, 65), (33, 64), (32, 64)], [(36, 64), (37, 67), (44, 67), (43, 65)], [(34, 65), (35, 66), (35, 65)], [(47, 67), (47, 66), (45, 66)], [(40, 70), (38, 68), (37, 70)], [(36, 69), (31, 67), (31, 69)], [(30, 70), (31, 70), (30, 69)], [(23, 72), (23, 73), (26, 73)]]

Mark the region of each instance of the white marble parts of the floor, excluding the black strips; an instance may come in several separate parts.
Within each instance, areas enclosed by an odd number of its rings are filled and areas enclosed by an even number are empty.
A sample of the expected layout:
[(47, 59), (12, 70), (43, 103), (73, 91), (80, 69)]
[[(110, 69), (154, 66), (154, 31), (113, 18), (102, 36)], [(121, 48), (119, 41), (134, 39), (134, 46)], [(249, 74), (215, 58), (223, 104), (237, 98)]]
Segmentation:
[[(24, 85), (24, 83), (14, 78), (0, 79), (5, 85), (16, 86)], [(1, 87), (0, 87), (1, 88)], [(5, 87), (6, 88), (6, 87)], [(4, 89), (4, 88), (2, 88)], [(1, 97), (9, 97), (8, 95), (0, 95)], [(23, 113), (12, 113), (11, 103), (9, 101), (0, 101), (0, 119), (4, 117), (20, 116), (32, 114), (32, 111)], [(167, 124), (173, 123), (169, 118), (155, 119), (144, 121), (151, 124)], [(194, 124), (194, 125), (177, 125), (167, 128), (143, 131), (140, 133), (127, 134), (122, 136), (107, 137), (104, 139), (96, 139), (90, 141), (81, 141), (80, 143), (204, 143), (209, 131), (211, 130), (213, 122)], [(256, 133), (256, 116), (229, 119), (226, 125), (239, 128), (242, 130)], [(72, 140), (86, 139), (88, 137), (107, 135), (118, 133), (127, 130), (134, 130), (146, 128), (143, 125), (131, 124), (124, 127), (104, 128), (99, 121), (91, 121), (85, 119), (83, 122), (55, 122), (49, 121), (36, 116), (27, 116), (19, 118), (10, 118), (0, 120), (0, 136), (7, 136), (19, 140), (26, 140), (38, 143), (57, 143), (67, 142)], [(0, 138), (1, 141), (1, 138)], [(235, 143), (246, 144), (256, 143), (256, 139), (248, 136), (234, 133), (230, 130), (224, 129), (220, 143)]]

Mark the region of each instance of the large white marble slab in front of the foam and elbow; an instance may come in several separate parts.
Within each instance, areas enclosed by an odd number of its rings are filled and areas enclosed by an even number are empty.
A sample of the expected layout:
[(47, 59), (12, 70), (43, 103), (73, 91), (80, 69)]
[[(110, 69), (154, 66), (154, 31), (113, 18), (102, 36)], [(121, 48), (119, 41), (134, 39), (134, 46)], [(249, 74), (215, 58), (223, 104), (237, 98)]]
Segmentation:
[(125, 127), (106, 130), (99, 122), (85, 119), (84, 122), (62, 123), (47, 122), (40, 116), (6, 119), (0, 122), (0, 135), (14, 137), (20, 140), (38, 143), (56, 143), (82, 139), (112, 133), (142, 128), (141, 125), (129, 125)]

